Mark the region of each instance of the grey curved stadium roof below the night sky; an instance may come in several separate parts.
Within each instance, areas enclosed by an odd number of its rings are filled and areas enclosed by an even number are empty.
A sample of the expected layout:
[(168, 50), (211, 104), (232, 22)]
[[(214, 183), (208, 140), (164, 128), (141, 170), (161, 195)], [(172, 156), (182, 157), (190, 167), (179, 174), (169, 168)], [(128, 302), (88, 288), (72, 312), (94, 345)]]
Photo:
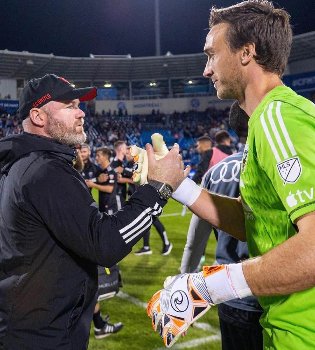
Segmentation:
[[(315, 31), (295, 35), (289, 62), (315, 57)], [(97, 82), (201, 77), (203, 53), (152, 57), (62, 57), (28, 51), (0, 50), (0, 77), (33, 79), (54, 73), (67, 80)]]

